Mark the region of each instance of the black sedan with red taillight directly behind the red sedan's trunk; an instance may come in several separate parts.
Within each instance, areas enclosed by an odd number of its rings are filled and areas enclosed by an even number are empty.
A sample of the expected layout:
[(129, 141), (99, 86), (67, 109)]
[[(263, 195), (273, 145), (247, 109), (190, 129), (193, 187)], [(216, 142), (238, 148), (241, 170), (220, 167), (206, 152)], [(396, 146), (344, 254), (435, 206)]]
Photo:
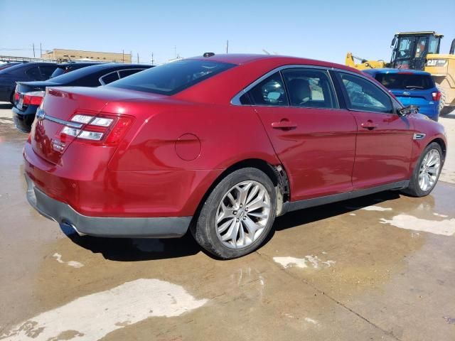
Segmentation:
[(17, 129), (28, 133), (45, 94), (45, 87), (99, 87), (146, 70), (151, 65), (107, 63), (83, 67), (45, 82), (17, 82), (13, 119)]

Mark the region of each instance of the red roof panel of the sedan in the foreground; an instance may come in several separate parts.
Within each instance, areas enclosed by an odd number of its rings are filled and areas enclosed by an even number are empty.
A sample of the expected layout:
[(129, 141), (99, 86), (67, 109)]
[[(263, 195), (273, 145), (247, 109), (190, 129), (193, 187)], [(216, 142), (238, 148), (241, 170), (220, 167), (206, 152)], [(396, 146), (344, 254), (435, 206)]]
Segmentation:
[(287, 55), (257, 55), (257, 54), (220, 54), (213, 55), (210, 57), (197, 56), (192, 58), (186, 58), (186, 60), (213, 60), (220, 63), (231, 63), (236, 65), (242, 65), (246, 63), (251, 63), (253, 61), (259, 60), (268, 60), (277, 64), (290, 65), (290, 64), (306, 64), (306, 65), (318, 65), (323, 67), (336, 67), (338, 69), (349, 70), (352, 72), (360, 73), (359, 70), (353, 69), (346, 65), (341, 65), (337, 63), (323, 62), (322, 60), (314, 60), (309, 58), (298, 58), (290, 57)]

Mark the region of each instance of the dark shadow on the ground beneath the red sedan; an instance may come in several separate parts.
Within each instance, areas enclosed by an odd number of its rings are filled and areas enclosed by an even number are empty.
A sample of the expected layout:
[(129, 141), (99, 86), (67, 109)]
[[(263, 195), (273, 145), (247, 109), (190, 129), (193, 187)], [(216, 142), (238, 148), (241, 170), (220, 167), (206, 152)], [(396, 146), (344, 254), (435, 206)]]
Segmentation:
[[(395, 200), (400, 197), (397, 191), (388, 191), (368, 195), (357, 199), (336, 202), (333, 204), (311, 207), (305, 210), (289, 212), (287, 215), (278, 217), (274, 224), (272, 233), (269, 234), (264, 244), (267, 244), (275, 232), (298, 227), (302, 224), (317, 222), (329, 217), (336, 217), (347, 212), (358, 210), (362, 207), (377, 205), (379, 202)], [(193, 239), (191, 233), (181, 238), (171, 239), (132, 239), (132, 238), (102, 238), (79, 236), (73, 229), (65, 225), (60, 225), (63, 233), (75, 244), (100, 253), (105, 259), (112, 261), (146, 261), (154, 259), (171, 259), (184, 256), (191, 256), (198, 252), (204, 252), (212, 259), (218, 259), (212, 254), (204, 251)]]

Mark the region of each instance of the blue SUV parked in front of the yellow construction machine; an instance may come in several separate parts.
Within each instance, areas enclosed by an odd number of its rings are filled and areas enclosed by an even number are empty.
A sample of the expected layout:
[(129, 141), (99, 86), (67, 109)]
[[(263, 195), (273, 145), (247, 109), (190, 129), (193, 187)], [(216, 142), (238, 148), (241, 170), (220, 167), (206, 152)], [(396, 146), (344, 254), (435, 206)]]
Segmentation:
[(439, 119), (441, 92), (428, 72), (402, 69), (368, 69), (363, 72), (387, 87), (403, 105), (417, 105), (420, 114), (434, 121)]

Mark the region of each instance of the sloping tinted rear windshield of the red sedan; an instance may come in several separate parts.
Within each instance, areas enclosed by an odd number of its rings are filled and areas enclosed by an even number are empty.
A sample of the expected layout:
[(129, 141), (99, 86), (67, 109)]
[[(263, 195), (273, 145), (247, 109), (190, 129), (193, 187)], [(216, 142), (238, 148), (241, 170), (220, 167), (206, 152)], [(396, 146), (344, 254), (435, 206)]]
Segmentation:
[(117, 80), (107, 86), (171, 95), (233, 66), (235, 65), (210, 60), (178, 60)]

